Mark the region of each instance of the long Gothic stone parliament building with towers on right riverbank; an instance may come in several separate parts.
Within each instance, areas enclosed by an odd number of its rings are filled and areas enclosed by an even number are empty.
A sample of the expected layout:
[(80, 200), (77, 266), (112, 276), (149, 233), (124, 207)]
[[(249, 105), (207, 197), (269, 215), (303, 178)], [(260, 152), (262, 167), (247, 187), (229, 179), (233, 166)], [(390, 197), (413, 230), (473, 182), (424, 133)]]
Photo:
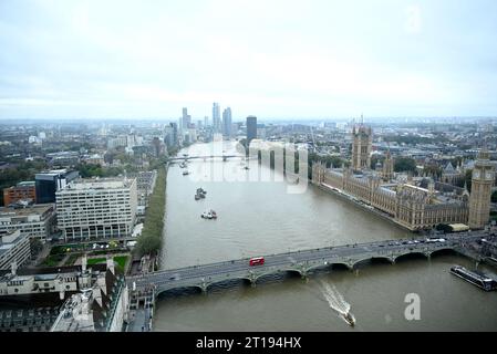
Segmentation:
[(359, 199), (412, 231), (439, 223), (464, 223), (470, 229), (482, 229), (488, 223), (495, 166), (486, 149), (479, 152), (475, 162), (469, 194), (466, 188), (433, 178), (395, 174), (390, 152), (383, 166), (372, 170), (372, 140), (371, 127), (354, 125), (350, 167), (327, 168), (314, 163), (312, 183)]

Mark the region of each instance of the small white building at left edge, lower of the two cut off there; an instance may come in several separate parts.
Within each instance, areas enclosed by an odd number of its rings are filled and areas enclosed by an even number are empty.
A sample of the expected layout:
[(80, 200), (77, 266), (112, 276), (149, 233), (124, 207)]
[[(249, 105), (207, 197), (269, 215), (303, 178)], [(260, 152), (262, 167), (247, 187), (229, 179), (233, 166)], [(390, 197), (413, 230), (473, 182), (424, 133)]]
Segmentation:
[(21, 267), (30, 257), (31, 247), (28, 235), (15, 230), (0, 236), (0, 270), (10, 269), (12, 263)]

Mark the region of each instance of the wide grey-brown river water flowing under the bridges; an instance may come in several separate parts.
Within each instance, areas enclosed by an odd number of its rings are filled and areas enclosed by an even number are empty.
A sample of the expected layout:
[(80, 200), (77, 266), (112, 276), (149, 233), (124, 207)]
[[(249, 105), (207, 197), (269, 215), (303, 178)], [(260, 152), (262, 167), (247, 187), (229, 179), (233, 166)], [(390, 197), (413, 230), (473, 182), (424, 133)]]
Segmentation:
[[(235, 142), (195, 144), (180, 154), (210, 155), (213, 149), (237, 154)], [(191, 160), (188, 176), (177, 164), (169, 167), (162, 269), (412, 237), (311, 185), (304, 192), (289, 194), (286, 181), (247, 177), (258, 168), (257, 160), (237, 157)], [(225, 180), (209, 180), (216, 175)], [(195, 200), (199, 187), (207, 195)], [(201, 219), (207, 209), (216, 210), (218, 219)], [(395, 264), (360, 264), (356, 271), (333, 269), (308, 280), (275, 277), (256, 288), (240, 283), (207, 294), (162, 294), (154, 330), (496, 331), (496, 293), (452, 275), (449, 268), (455, 263), (473, 267), (454, 254), (431, 260), (408, 257)], [(420, 320), (404, 316), (411, 293), (420, 296)], [(354, 327), (340, 315), (349, 309), (356, 320)]]

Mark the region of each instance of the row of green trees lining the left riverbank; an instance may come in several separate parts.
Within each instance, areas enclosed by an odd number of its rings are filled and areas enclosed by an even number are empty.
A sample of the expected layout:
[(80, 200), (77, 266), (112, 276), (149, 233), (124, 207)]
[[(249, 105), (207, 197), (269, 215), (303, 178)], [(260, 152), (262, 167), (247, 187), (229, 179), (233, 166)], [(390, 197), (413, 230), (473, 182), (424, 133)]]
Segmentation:
[(166, 169), (161, 166), (154, 192), (151, 195), (148, 209), (145, 215), (142, 235), (137, 238), (136, 252), (138, 256), (154, 254), (161, 250), (163, 243), (164, 211), (166, 207)]

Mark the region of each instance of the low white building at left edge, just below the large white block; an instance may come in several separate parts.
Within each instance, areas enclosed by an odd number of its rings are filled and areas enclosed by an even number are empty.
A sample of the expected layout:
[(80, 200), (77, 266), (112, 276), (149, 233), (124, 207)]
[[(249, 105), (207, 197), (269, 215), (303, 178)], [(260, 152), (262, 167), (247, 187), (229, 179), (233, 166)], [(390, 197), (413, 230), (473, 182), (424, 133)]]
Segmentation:
[(50, 205), (34, 205), (22, 209), (0, 208), (0, 233), (20, 230), (21, 235), (45, 242), (53, 232), (55, 208)]

